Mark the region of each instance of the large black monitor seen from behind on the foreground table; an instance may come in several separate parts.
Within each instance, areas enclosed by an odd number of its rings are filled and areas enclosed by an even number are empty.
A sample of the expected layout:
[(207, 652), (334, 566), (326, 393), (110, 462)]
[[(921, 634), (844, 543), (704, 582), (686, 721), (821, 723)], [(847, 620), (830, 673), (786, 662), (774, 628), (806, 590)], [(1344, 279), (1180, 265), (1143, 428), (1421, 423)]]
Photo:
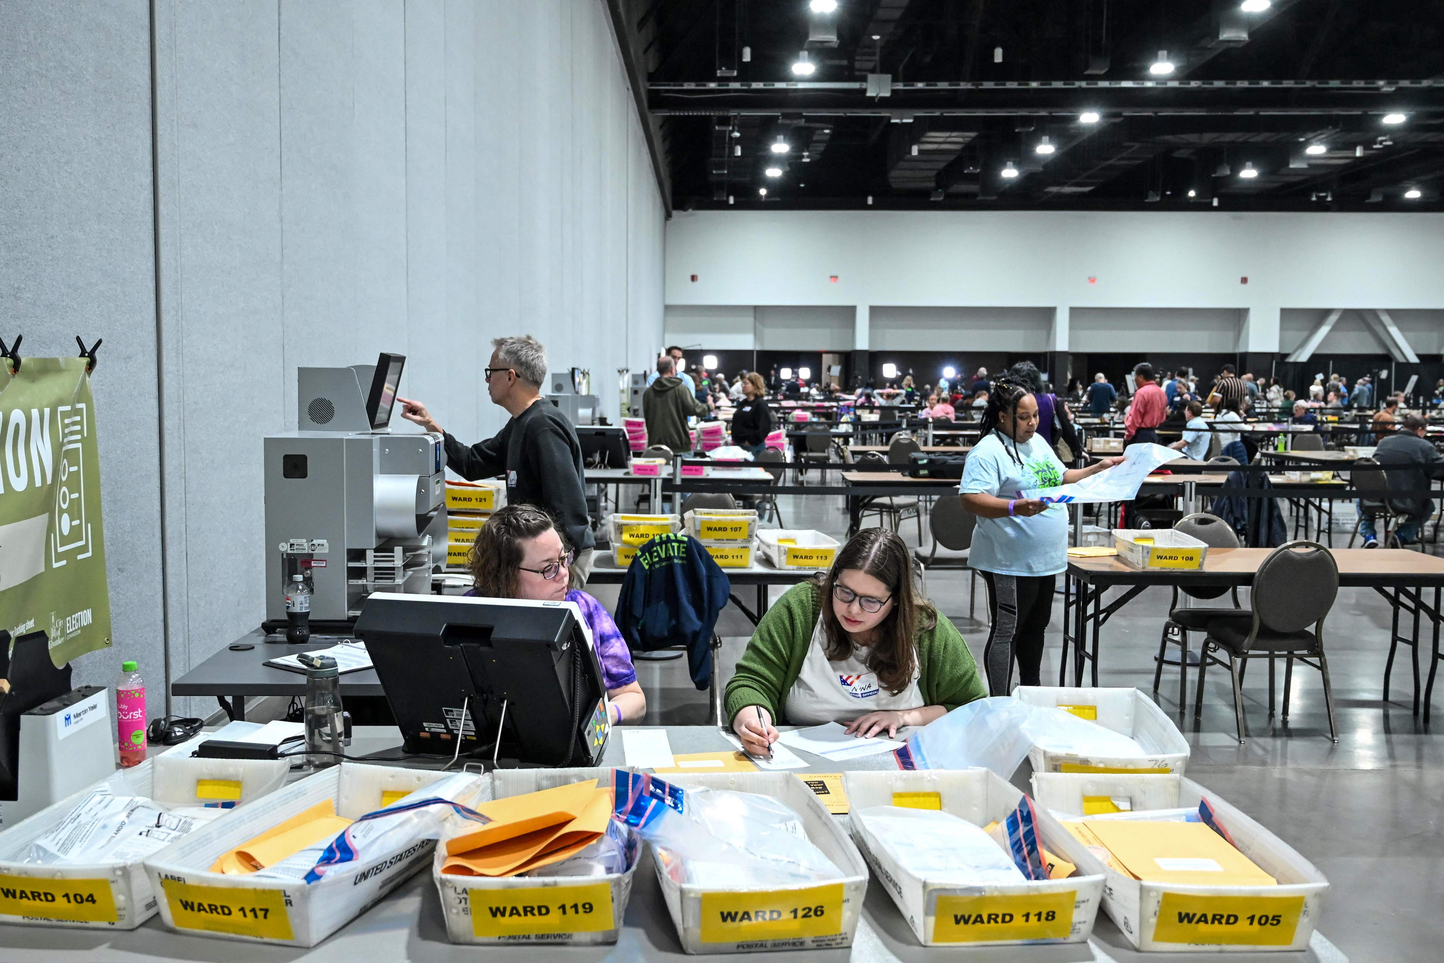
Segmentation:
[[(599, 765), (602, 667), (566, 602), (377, 592), (357, 618), (407, 752)], [(501, 745), (495, 746), (498, 739)]]

